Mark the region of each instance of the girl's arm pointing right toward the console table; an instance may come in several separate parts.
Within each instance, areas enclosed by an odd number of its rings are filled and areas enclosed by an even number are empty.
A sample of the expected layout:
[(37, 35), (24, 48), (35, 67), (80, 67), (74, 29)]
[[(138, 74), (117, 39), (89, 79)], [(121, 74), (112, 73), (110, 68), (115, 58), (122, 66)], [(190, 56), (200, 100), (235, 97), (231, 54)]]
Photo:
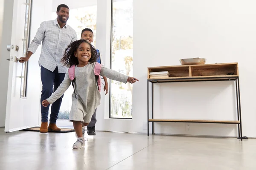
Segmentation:
[(100, 75), (104, 77), (108, 77), (109, 79), (112, 79), (112, 80), (123, 82), (123, 83), (126, 83), (126, 82), (134, 83), (136, 81), (139, 81), (134, 77), (126, 76), (124, 74), (118, 73), (117, 71), (105, 68), (103, 66), (101, 68)]

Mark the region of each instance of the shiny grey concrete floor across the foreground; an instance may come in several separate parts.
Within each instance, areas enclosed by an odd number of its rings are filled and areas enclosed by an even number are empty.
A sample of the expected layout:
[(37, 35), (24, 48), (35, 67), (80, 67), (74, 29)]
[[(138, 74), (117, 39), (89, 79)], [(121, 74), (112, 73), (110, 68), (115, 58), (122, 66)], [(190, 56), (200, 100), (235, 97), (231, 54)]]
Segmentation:
[(256, 140), (96, 132), (73, 150), (75, 133), (0, 128), (0, 170), (256, 170)]

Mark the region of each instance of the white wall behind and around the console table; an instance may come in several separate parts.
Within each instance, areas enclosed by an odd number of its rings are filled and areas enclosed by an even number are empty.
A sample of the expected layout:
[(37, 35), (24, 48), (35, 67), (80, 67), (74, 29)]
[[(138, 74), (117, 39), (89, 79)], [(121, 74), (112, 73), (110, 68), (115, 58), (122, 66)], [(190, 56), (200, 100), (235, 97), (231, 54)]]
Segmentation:
[[(120, 121), (102, 116), (104, 104), (105, 114), (108, 114), (108, 101), (105, 98), (97, 111), (96, 129), (145, 133), (143, 121), (147, 120), (147, 67), (180, 65), (179, 59), (182, 58), (205, 57), (208, 64), (239, 62), (243, 136), (256, 137), (256, 107), (253, 100), (256, 95), (256, 80), (253, 79), (256, 74), (255, 6), (254, 0), (159, 0), (157, 3), (155, 0), (134, 0), (133, 72), (140, 82), (133, 86), (133, 119)], [(97, 14), (102, 20), (103, 16), (99, 15), (104, 14)], [(97, 42), (99, 22), (97, 18)], [(105, 26), (108, 28), (109, 24)], [(107, 49), (104, 45), (96, 46)], [(155, 85), (154, 118), (236, 119), (233, 83)], [(237, 135), (237, 125), (191, 123), (189, 132), (185, 130), (185, 123), (155, 125), (155, 133)]]

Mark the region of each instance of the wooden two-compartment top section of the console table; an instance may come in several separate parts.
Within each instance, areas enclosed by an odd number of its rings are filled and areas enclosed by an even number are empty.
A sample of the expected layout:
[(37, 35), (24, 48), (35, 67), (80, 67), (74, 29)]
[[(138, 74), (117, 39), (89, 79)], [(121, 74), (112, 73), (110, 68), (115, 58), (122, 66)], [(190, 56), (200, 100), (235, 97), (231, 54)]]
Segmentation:
[[(150, 77), (149, 73), (169, 71), (170, 77), (158, 78), (165, 79), (166, 82), (177, 81), (177, 79), (186, 79), (198, 81), (201, 79), (223, 80), (235, 79), (239, 76), (238, 63), (222, 63), (222, 64), (204, 64), (204, 65), (175, 65), (162, 67), (149, 67), (148, 79), (155, 79)], [(180, 81), (180, 80), (179, 80)], [(184, 81), (184, 80), (183, 80)]]

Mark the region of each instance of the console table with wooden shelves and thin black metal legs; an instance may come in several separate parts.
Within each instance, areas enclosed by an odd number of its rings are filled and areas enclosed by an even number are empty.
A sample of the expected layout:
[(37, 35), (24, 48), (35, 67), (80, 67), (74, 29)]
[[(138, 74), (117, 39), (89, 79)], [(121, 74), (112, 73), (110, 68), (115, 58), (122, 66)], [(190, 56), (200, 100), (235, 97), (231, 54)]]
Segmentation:
[[(152, 72), (168, 71), (169, 77), (154, 78)], [(154, 119), (154, 83), (163, 82), (201, 82), (201, 81), (236, 81), (236, 106), (237, 120), (184, 120), (184, 119)], [(151, 119), (149, 119), (149, 82), (151, 82)], [(189, 122), (189, 123), (217, 123), (237, 124), (238, 139), (242, 137), (241, 105), (238, 63), (204, 64), (204, 65), (180, 65), (148, 68), (148, 136), (149, 122), (152, 122), (152, 134), (154, 134), (154, 122)], [(245, 139), (245, 138), (244, 138)]]

